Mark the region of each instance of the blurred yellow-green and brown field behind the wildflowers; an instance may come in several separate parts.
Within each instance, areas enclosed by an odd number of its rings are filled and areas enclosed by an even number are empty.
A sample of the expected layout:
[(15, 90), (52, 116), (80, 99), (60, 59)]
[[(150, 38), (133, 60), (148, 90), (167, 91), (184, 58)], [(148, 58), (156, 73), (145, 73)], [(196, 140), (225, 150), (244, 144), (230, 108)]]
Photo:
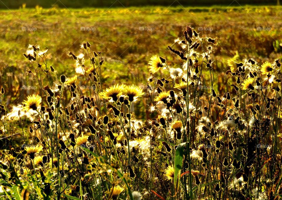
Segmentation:
[(147, 63), (155, 54), (180, 67), (181, 62), (167, 45), (177, 48), (174, 40), (188, 25), (203, 36), (217, 37), (217, 75), (228, 70), (227, 60), (236, 54), (241, 59), (255, 58), (259, 63), (281, 57), (281, 6), (241, 6), (237, 1), (206, 7), (180, 3), (126, 8), (120, 3), (120, 7), (78, 9), (26, 5), (0, 11), (0, 87), (10, 95), (11, 104), (21, 102), (21, 96), (33, 92), (32, 87), (23, 87), (34, 85), (26, 74), (31, 65), (23, 56), (29, 44), (48, 49), (47, 66), (52, 65), (60, 75), (70, 76), (75, 72), (75, 64), (68, 52), (80, 54), (80, 44), (89, 41), (93, 50), (102, 52), (103, 82), (109, 85), (146, 83), (150, 74)]

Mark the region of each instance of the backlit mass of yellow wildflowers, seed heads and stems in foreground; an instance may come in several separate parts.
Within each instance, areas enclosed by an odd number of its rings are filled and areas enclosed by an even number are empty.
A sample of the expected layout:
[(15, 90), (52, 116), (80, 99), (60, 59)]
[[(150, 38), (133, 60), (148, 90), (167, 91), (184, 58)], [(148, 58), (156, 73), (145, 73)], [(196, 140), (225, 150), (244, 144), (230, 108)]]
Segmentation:
[[(185, 28), (168, 46), (181, 66), (152, 56), (147, 90), (140, 84), (105, 87), (102, 53), (88, 42), (81, 45), (84, 53), (68, 54), (75, 62), (73, 77), (58, 77), (47, 66), (46, 51), (30, 45), (24, 57), (40, 91), (10, 112), (1, 105), (0, 195), (17, 198), (15, 190), (31, 199), (280, 195), (280, 61), (260, 66), (252, 58), (229, 60), (230, 81), (222, 92), (215, 88), (216, 40)], [(146, 120), (135, 117), (140, 102), (150, 106)], [(10, 134), (13, 123), (22, 131)]]

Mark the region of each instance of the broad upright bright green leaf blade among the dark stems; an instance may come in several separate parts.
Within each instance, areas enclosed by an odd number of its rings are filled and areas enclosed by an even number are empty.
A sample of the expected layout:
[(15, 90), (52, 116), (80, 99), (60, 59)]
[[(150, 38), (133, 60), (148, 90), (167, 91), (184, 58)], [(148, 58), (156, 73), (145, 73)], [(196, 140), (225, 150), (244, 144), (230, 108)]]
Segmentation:
[(177, 191), (178, 186), (180, 184), (180, 172), (182, 169), (182, 162), (183, 162), (183, 156), (184, 156), (184, 147), (186, 146), (185, 143), (181, 143), (177, 146), (175, 149), (175, 155), (174, 155), (174, 188)]

